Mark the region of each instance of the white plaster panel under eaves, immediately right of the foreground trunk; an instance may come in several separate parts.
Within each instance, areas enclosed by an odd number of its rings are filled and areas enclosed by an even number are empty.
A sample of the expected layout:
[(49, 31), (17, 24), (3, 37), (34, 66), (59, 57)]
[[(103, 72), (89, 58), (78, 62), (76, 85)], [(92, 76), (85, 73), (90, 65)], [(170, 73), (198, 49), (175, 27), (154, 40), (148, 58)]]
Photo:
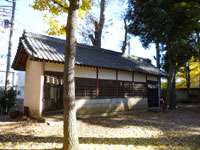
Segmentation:
[(82, 66), (75, 67), (75, 77), (96, 78), (96, 76), (96, 68)]

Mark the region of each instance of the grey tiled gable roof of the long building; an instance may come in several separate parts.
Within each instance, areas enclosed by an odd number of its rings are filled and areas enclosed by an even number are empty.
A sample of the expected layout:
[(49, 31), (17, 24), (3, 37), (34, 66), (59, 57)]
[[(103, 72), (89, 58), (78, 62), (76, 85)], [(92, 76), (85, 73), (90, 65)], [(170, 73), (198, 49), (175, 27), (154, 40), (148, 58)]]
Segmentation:
[[(16, 70), (25, 69), (25, 67), (20, 67), (20, 64), (22, 63), (20, 63), (21, 59), (19, 56), (20, 53), (22, 53), (22, 47), (25, 50), (25, 53), (27, 53), (27, 55), (32, 59), (64, 63), (64, 45), (65, 40), (63, 39), (26, 32), (20, 38), (18, 51), (12, 67)], [(122, 56), (119, 52), (96, 48), (84, 44), (77, 44), (76, 64), (127, 71), (138, 71), (153, 75), (165, 75), (153, 66), (147, 59), (134, 56)]]

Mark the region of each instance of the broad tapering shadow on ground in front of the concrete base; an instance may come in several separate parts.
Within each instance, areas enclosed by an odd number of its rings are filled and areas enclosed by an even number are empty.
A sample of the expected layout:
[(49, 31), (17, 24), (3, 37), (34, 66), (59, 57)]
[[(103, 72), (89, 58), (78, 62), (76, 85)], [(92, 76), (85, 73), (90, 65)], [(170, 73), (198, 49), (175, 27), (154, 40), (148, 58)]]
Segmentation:
[(121, 128), (124, 126), (155, 127), (160, 130), (180, 130), (194, 131), (193, 128), (200, 127), (200, 107), (180, 106), (171, 112), (139, 112), (129, 115), (119, 115), (114, 117), (96, 117), (80, 119), (82, 122), (91, 125), (98, 125), (109, 128)]

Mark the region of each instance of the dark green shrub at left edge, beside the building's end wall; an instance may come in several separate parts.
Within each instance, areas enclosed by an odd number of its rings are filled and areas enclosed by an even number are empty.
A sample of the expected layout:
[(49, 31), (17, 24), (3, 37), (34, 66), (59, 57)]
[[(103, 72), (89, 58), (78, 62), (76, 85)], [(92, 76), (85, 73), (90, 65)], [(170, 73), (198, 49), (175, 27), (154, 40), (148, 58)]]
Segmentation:
[(0, 113), (8, 113), (9, 110), (15, 105), (16, 91), (9, 89), (8, 91), (0, 90)]

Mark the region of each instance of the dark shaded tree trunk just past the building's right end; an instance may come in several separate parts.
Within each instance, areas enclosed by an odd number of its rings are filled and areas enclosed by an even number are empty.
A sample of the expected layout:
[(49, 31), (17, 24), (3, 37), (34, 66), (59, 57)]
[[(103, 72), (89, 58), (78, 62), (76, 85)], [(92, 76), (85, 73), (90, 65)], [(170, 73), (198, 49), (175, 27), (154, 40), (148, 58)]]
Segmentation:
[(171, 49), (168, 49), (168, 89), (167, 89), (167, 100), (169, 102), (170, 109), (176, 108), (176, 59), (175, 54), (172, 53)]

